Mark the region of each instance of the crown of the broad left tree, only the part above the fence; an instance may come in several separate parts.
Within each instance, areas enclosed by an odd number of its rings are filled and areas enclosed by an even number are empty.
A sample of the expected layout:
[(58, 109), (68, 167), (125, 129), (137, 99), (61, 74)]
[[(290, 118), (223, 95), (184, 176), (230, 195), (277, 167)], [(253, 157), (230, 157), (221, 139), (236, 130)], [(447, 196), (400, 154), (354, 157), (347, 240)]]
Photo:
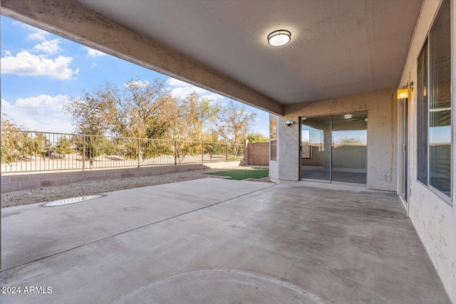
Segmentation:
[(159, 79), (153, 83), (128, 80), (123, 89), (105, 82), (83, 98), (71, 98), (64, 108), (73, 117), (75, 132), (81, 134), (161, 138), (162, 103), (167, 95)]

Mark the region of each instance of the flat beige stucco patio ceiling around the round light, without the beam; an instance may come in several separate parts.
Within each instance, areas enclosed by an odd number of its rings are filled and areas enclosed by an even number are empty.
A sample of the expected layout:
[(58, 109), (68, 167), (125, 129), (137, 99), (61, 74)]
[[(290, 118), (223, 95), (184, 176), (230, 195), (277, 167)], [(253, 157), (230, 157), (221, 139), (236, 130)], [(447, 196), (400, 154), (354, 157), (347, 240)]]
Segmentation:
[[(395, 88), (422, 0), (79, 0), (279, 103)], [(271, 47), (266, 36), (291, 31)]]

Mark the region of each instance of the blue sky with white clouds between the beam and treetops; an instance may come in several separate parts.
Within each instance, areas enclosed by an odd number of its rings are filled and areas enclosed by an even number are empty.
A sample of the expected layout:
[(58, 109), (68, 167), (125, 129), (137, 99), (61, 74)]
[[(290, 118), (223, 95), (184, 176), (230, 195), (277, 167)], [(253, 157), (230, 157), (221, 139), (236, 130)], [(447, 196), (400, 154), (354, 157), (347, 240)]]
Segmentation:
[[(139, 65), (123, 61), (25, 23), (0, 16), (1, 112), (29, 130), (73, 132), (71, 116), (63, 105), (71, 97), (93, 92), (105, 81), (118, 87), (131, 79), (166, 81), (172, 95), (183, 98), (195, 90), (199, 96), (224, 105), (222, 95), (197, 88)], [(269, 136), (269, 113), (257, 113), (253, 132)]]

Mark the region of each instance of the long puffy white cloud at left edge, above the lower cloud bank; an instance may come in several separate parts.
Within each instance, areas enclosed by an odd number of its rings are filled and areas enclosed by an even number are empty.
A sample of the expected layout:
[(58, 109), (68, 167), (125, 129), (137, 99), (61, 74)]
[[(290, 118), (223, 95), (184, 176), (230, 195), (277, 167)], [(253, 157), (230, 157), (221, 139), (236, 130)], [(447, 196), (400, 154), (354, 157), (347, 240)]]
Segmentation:
[(73, 70), (69, 65), (71, 57), (58, 56), (55, 59), (45, 55), (33, 55), (21, 51), (16, 56), (7, 55), (1, 58), (1, 73), (21, 76), (49, 76), (60, 80), (76, 79), (74, 75), (79, 69)]

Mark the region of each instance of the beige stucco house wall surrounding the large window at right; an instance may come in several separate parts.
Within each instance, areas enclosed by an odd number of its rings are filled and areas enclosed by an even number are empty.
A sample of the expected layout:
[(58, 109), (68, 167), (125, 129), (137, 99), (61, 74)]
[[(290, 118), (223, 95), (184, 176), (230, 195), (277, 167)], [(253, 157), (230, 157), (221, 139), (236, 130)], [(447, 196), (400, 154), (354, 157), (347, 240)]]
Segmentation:
[[(455, 63), (455, 37), (456, 37), (456, 0), (452, 1), (452, 129), (453, 129), (453, 145), (456, 143), (456, 128), (455, 128), (455, 90), (456, 84), (456, 63)], [(440, 0), (425, 0), (421, 10), (420, 18), (418, 19), (417, 27), (410, 44), (407, 61), (403, 69), (402, 77), (400, 78), (401, 85), (405, 85), (408, 81), (417, 83), (418, 56), (420, 54), (423, 43), (425, 42), (427, 33), (430, 29), (432, 21), (437, 14), (437, 9), (440, 6)], [(410, 76), (409, 76), (410, 75)], [(410, 79), (409, 79), (410, 77)], [(410, 196), (408, 204), (410, 205), (410, 219), (415, 226), (421, 241), (429, 253), (429, 256), (434, 263), (437, 272), (442, 279), (448, 295), (453, 303), (456, 303), (456, 212), (453, 206), (447, 204), (443, 199), (440, 199), (427, 186), (421, 184), (417, 180), (417, 100), (414, 93), (410, 94), (409, 99), (409, 153), (410, 153)], [(452, 154), (452, 164), (455, 164), (455, 149)], [(455, 196), (455, 170), (452, 173), (452, 194)], [(453, 199), (453, 204), (454, 203)], [(417, 267), (419, 267), (417, 265)]]

